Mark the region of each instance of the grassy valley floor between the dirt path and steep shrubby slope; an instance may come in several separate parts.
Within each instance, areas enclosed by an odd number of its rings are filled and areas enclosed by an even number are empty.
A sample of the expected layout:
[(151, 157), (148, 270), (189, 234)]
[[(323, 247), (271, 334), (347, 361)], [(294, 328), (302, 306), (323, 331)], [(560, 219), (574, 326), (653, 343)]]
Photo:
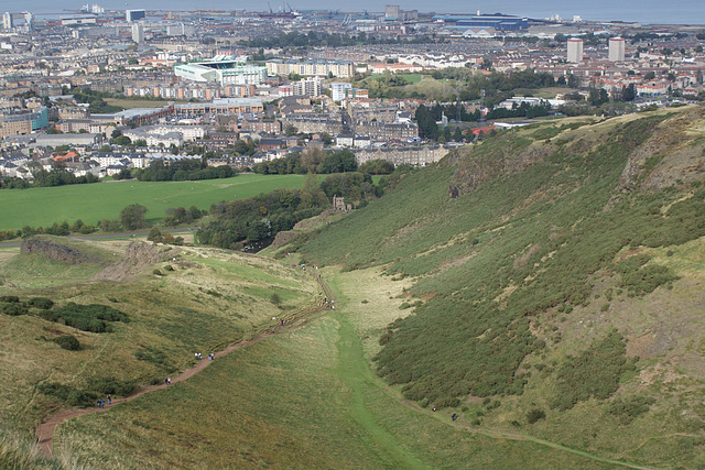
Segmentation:
[(323, 272), (339, 293), (335, 311), (185, 383), (72, 419), (57, 428), (55, 448), (109, 468), (610, 467), (466, 429), (447, 411), (401, 400), (370, 368), (379, 334), (410, 311), (399, 309), (405, 283), (379, 274)]

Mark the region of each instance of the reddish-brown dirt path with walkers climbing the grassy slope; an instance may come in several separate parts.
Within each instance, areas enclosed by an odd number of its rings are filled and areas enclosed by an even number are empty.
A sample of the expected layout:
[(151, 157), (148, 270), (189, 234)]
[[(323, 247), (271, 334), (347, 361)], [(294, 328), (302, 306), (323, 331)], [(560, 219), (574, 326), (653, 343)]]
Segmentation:
[[(328, 287), (328, 285), (323, 281), (323, 278), (321, 278), (318, 276), (317, 272), (311, 272), (311, 274), (313, 275), (313, 277), (316, 280), (316, 282), (318, 283), (318, 285), (321, 286), (321, 289), (323, 292), (326, 293), (326, 295), (330, 295), (332, 291), (330, 287)], [(328, 297), (330, 298), (330, 297)], [(258, 332), (256, 332), (251, 338), (247, 338), (243, 339), (239, 342), (236, 342), (235, 345), (230, 345), (227, 348), (225, 348), (221, 351), (218, 351), (215, 353), (215, 359), (221, 358), (237, 349), (242, 349), (242, 348), (247, 348), (248, 346), (251, 346), (256, 342), (259, 342), (265, 338), (269, 338), (271, 336), (274, 335), (280, 335), (283, 332), (289, 332), (289, 331), (294, 331), (299, 328), (304, 327), (305, 325), (307, 325), (307, 319), (310, 319), (314, 314), (326, 310), (327, 309), (327, 305), (325, 305), (323, 303), (323, 299), (319, 299), (318, 305), (316, 305), (315, 307), (308, 307), (308, 308), (304, 308), (302, 310), (299, 310), (296, 313), (290, 314), (285, 317), (283, 317), (284, 320), (284, 326), (275, 326), (275, 327), (271, 327), (268, 326), (265, 328), (262, 328), (261, 330), (259, 330)], [(188, 380), (189, 378), (192, 378), (193, 375), (197, 374), (198, 372), (200, 372), (202, 370), (204, 370), (205, 368), (207, 368), (210, 364), (212, 361), (204, 359), (200, 360), (196, 363), (196, 365), (194, 365), (191, 369), (186, 369), (185, 371), (183, 371), (181, 374), (178, 374), (177, 376), (174, 376), (172, 379), (172, 384), (178, 383), (178, 382), (183, 382), (185, 380)], [(45, 455), (45, 456), (51, 456), (52, 455), (52, 448), (53, 448), (53, 436), (54, 436), (54, 429), (56, 428), (56, 426), (58, 426), (59, 424), (64, 423), (66, 419), (70, 419), (73, 417), (76, 416), (80, 416), (80, 415), (87, 415), (90, 413), (105, 413), (108, 409), (112, 408), (116, 405), (119, 405), (120, 403), (126, 403), (126, 402), (130, 402), (134, 398), (137, 398), (140, 395), (144, 395), (145, 393), (150, 393), (150, 392), (154, 392), (155, 390), (162, 390), (162, 389), (166, 389), (169, 385), (166, 384), (161, 384), (161, 385), (150, 385), (150, 386), (143, 386), (140, 390), (138, 390), (137, 392), (132, 393), (129, 396), (126, 396), (124, 398), (113, 398), (112, 403), (110, 405), (108, 405), (106, 403), (105, 408), (70, 408), (70, 409), (65, 409), (63, 412), (59, 412), (53, 416), (51, 416), (48, 419), (46, 419), (45, 422), (43, 422), (42, 424), (40, 424), (36, 428), (36, 438), (40, 445), (40, 450)]]

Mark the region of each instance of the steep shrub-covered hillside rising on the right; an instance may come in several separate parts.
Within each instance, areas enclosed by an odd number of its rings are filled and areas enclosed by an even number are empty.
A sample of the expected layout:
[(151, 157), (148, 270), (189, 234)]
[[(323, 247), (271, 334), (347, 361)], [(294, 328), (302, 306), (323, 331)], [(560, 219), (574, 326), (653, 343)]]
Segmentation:
[(413, 278), (413, 315), (375, 358), (406, 398), (697, 464), (705, 110), (565, 122), (460, 150), (293, 244), (313, 263)]

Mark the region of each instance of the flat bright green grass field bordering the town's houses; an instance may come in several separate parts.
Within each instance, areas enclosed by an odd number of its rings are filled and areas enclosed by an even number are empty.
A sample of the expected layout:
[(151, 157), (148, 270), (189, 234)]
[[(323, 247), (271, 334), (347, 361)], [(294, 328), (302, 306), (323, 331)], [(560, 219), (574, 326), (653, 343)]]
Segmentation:
[(64, 220), (82, 219), (96, 223), (117, 219), (130, 204), (147, 206), (148, 220), (164, 218), (165, 209), (196, 206), (208, 209), (214, 203), (243, 199), (275, 188), (300, 188), (302, 175), (243, 174), (227, 179), (198, 182), (105, 182), (50, 188), (2, 190), (0, 230), (18, 230), (24, 226), (48, 226)]

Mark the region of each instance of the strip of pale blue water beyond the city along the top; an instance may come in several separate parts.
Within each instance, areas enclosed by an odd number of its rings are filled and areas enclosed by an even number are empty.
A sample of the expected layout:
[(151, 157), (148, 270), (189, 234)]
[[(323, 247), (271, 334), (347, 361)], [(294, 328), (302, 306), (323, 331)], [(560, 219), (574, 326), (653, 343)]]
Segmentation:
[[(85, 1), (53, 1), (32, 0), (26, 3), (19, 3), (9, 0), (0, 0), (1, 11), (21, 11), (30, 9), (35, 14), (58, 13), (63, 9), (77, 10), (84, 3), (98, 3), (110, 10), (148, 9), (148, 10), (265, 10), (267, 2), (261, 0), (85, 0)], [(552, 14), (558, 14), (563, 19), (572, 19), (579, 15), (584, 20), (590, 21), (636, 21), (643, 23), (668, 23), (668, 24), (705, 24), (705, 1), (703, 0), (677, 0), (668, 2), (663, 0), (447, 0), (441, 3), (431, 3), (422, 0), (394, 1), (386, 0), (359, 0), (351, 4), (343, 0), (291, 0), (284, 2), (299, 10), (340, 10), (349, 11), (351, 7), (356, 11), (368, 10), (380, 12), (383, 4), (399, 4), (402, 10), (416, 9), (421, 12), (435, 10), (437, 13), (505, 13), (517, 17), (543, 19)], [(22, 7), (20, 7), (20, 4)], [(270, 0), (273, 9), (280, 8), (280, 0)]]

